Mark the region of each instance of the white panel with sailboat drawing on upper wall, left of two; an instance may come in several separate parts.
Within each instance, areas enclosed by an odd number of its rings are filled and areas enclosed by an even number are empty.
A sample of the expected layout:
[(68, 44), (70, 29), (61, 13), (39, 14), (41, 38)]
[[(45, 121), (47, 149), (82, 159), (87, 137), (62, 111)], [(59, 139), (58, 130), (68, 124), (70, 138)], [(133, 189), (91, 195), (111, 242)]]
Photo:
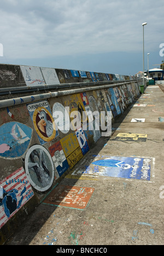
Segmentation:
[(45, 84), (40, 67), (20, 66), (27, 86)]

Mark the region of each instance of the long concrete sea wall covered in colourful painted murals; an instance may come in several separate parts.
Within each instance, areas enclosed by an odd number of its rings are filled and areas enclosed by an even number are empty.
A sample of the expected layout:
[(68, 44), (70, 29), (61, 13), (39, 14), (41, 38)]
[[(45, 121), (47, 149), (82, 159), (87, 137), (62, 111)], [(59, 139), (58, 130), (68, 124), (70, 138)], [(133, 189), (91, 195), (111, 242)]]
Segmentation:
[(101, 137), (93, 113), (110, 112), (114, 123), (140, 83), (125, 75), (0, 65), (0, 245)]

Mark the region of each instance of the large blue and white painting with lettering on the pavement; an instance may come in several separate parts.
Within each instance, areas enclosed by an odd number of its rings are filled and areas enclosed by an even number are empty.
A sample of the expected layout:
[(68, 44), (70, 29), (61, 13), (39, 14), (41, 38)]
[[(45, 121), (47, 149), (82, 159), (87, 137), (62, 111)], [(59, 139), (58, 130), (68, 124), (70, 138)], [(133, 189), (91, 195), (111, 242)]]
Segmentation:
[[(151, 158), (90, 155), (72, 176), (109, 176), (150, 181)], [(91, 164), (90, 164), (91, 163)]]

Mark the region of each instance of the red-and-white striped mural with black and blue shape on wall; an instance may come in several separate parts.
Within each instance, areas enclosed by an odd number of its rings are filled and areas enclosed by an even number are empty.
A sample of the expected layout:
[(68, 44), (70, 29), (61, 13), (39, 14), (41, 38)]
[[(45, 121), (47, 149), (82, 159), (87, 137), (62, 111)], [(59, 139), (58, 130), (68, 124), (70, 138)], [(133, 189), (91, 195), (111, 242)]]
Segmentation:
[(23, 167), (0, 182), (3, 194), (0, 197), (0, 229), (33, 196), (33, 190)]

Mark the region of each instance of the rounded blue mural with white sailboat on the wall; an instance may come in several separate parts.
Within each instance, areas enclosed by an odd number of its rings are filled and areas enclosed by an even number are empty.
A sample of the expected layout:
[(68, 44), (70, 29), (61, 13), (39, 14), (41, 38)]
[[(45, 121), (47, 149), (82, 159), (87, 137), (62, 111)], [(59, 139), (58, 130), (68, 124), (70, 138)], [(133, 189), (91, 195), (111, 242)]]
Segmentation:
[(20, 158), (32, 138), (32, 129), (25, 124), (10, 122), (0, 126), (0, 158)]

